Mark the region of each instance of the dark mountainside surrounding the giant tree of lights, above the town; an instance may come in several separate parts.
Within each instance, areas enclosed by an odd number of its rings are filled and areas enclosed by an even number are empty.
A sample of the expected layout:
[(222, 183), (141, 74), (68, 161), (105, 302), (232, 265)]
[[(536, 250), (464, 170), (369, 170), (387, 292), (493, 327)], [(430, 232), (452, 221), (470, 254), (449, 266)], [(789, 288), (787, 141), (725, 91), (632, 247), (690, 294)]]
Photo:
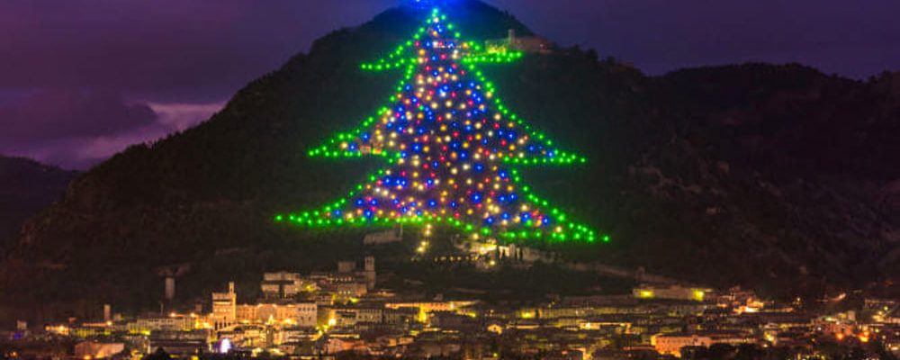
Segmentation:
[[(530, 33), (476, 1), (446, 12), (473, 39)], [(179, 287), (190, 299), (229, 278), (361, 251), (347, 244), (365, 229), (311, 232), (271, 219), (346, 193), (377, 165), (306, 151), (383, 105), (400, 75), (359, 63), (406, 40), (419, 18), (397, 8), (335, 31), (210, 121), (79, 176), (26, 224), (0, 265), (0, 299), (41, 300), (48, 314), (147, 307), (161, 266), (190, 269)], [(581, 49), (484, 72), (510, 109), (590, 159), (522, 169), (536, 193), (613, 236), (552, 245), (566, 257), (773, 294), (900, 274), (900, 76), (862, 82), (747, 64), (653, 77)], [(329, 244), (339, 250), (324, 252)]]

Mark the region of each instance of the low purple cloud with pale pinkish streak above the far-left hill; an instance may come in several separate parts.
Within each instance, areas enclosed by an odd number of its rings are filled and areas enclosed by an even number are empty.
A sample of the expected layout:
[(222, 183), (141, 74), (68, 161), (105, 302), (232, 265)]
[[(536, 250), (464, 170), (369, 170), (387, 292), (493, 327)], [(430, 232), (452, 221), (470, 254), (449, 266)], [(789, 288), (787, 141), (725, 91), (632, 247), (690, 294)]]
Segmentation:
[(0, 106), (0, 153), (86, 168), (131, 144), (185, 130), (222, 103), (125, 103), (109, 92), (50, 90)]

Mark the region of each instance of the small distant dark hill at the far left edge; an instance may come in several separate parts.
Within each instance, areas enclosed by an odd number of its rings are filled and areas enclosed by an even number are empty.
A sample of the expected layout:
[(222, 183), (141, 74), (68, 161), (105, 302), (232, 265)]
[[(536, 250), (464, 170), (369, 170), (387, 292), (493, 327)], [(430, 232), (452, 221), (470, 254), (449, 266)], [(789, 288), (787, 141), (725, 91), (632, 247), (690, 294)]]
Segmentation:
[(23, 221), (61, 198), (75, 175), (31, 159), (0, 156), (0, 254), (18, 235)]

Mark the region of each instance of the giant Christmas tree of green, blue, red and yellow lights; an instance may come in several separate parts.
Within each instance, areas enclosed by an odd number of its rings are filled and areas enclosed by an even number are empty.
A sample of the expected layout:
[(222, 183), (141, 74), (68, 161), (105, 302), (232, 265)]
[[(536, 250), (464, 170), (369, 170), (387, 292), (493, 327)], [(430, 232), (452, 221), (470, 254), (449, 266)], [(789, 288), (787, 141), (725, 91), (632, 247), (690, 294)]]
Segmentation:
[[(438, 9), (412, 40), (364, 70), (405, 70), (390, 106), (312, 157), (384, 157), (387, 166), (319, 211), (278, 215), (303, 226), (451, 226), (473, 238), (596, 241), (592, 229), (521, 184), (516, 166), (584, 163), (531, 129), (496, 97), (478, 63), (522, 57), (460, 40)], [(608, 241), (607, 236), (599, 237)]]

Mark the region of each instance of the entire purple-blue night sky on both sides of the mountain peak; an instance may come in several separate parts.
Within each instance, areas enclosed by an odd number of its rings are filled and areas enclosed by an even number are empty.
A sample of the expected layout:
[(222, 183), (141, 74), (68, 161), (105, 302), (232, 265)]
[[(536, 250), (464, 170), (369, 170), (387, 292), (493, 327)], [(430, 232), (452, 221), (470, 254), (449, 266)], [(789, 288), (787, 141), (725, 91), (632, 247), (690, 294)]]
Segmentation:
[[(896, 0), (489, 0), (537, 33), (662, 74), (797, 61), (900, 69)], [(4, 0), (0, 153), (85, 168), (183, 130), (331, 30), (399, 0)]]

